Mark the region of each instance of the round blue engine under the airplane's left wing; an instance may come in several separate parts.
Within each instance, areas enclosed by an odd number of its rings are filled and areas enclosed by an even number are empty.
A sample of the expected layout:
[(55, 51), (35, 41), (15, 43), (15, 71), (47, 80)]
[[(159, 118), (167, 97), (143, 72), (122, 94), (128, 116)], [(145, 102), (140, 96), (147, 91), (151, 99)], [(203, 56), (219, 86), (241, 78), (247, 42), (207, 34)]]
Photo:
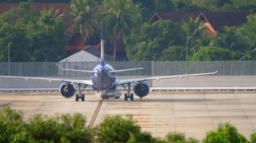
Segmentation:
[(72, 84), (63, 83), (60, 85), (60, 93), (65, 98), (73, 97), (76, 93), (76, 87)]

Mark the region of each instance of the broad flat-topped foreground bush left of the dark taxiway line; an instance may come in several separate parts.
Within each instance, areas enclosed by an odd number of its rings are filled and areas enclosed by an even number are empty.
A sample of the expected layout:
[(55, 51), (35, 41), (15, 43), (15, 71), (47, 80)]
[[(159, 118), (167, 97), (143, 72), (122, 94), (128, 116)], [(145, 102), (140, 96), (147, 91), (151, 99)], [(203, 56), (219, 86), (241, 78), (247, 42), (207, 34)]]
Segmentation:
[(85, 127), (81, 114), (63, 114), (55, 117), (36, 115), (27, 124), (26, 131), (40, 142), (92, 142), (93, 134)]

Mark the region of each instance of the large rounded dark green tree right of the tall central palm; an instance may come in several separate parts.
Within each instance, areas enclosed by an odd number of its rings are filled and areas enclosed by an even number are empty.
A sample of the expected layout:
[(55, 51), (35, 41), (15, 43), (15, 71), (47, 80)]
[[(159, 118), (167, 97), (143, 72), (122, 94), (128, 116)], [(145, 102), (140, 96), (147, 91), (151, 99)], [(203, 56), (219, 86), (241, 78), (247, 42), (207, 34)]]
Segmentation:
[(140, 31), (133, 30), (125, 38), (127, 56), (130, 60), (159, 60), (163, 49), (169, 46), (184, 46), (186, 36), (183, 29), (172, 21), (156, 21), (143, 24)]

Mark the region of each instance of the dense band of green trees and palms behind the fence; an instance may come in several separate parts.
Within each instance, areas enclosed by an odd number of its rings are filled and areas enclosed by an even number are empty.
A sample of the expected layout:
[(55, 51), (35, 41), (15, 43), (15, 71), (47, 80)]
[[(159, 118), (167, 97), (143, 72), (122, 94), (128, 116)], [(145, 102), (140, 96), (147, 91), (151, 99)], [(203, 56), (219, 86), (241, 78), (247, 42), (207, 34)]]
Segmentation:
[[(27, 0), (22, 0), (27, 1)], [(0, 2), (20, 2), (2, 0)], [(34, 0), (31, 2), (41, 2)], [(54, 1), (44, 1), (54, 2)], [(65, 44), (80, 32), (83, 43), (99, 35), (114, 45), (114, 59), (119, 41), (124, 39), (129, 60), (256, 60), (256, 0), (59, 0), (70, 2), (70, 9), (57, 14), (51, 9), (41, 15), (27, 2), (19, 9), (0, 15), (0, 61), (59, 61), (65, 56)], [(148, 24), (155, 11), (252, 11), (241, 26), (223, 27), (216, 35), (206, 34), (203, 21), (190, 19), (183, 24), (157, 21)], [(62, 16), (70, 19), (63, 21)], [(66, 23), (64, 23), (66, 22)], [(70, 33), (64, 25), (71, 24)], [(122, 45), (122, 44), (121, 44)], [(205, 49), (204, 47), (219, 47)], [(213, 50), (213, 51), (212, 51)], [(186, 52), (188, 51), (188, 57)], [(219, 54), (217, 54), (219, 52)], [(207, 54), (214, 54), (211, 57)], [(57, 55), (57, 56), (56, 56)], [(219, 56), (216, 58), (215, 56)]]

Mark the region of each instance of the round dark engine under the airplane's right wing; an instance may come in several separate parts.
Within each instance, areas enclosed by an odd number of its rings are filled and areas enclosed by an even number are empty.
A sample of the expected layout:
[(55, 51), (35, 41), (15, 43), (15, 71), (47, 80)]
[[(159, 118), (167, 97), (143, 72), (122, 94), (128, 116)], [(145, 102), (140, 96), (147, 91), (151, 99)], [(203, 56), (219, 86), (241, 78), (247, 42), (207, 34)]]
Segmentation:
[(137, 82), (133, 87), (133, 92), (138, 97), (146, 97), (150, 92), (150, 84), (148, 82)]

